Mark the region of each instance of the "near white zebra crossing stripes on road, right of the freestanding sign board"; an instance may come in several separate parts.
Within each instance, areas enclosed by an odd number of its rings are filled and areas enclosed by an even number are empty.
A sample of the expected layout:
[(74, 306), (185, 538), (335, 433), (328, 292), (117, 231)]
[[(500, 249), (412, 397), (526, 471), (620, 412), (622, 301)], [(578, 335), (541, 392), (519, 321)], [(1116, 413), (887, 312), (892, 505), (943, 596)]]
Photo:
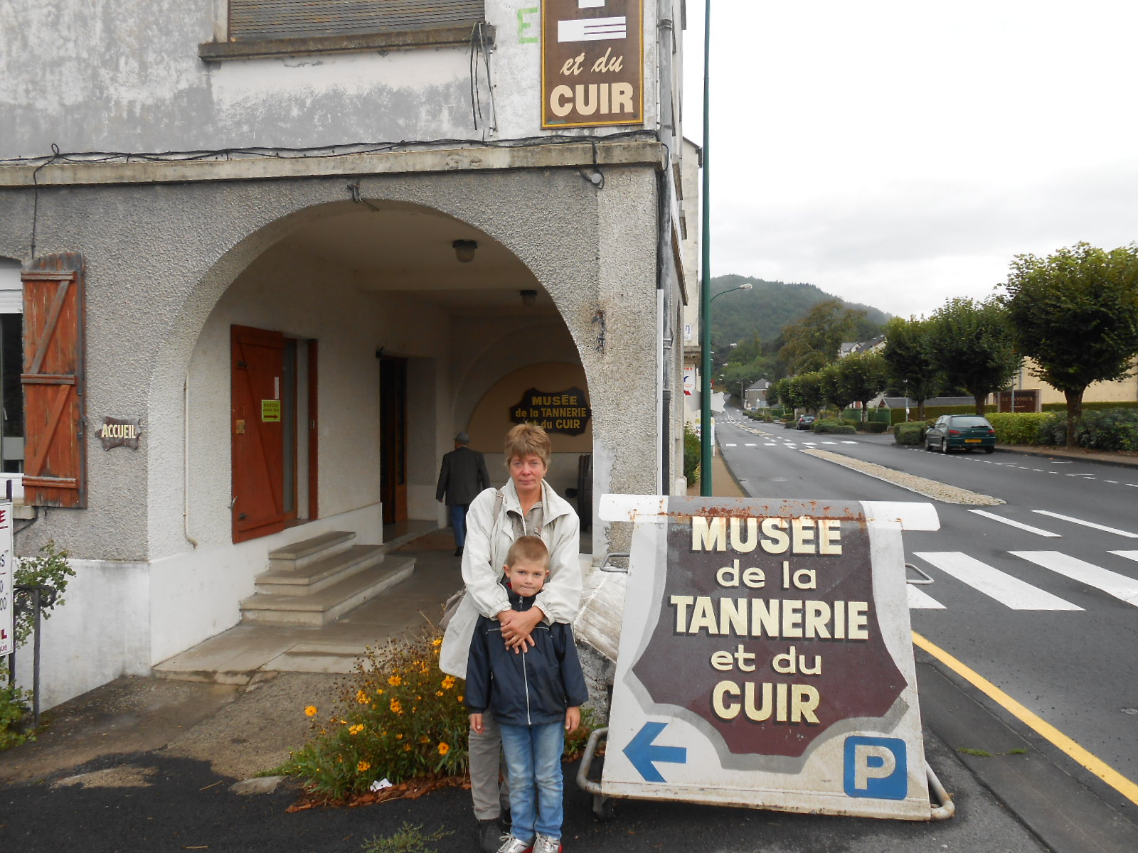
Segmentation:
[[(968, 512), (989, 519), (990, 521), (1009, 524), (1020, 530), (1034, 533), (1045, 538), (1062, 538), (1062, 533), (1054, 530), (1045, 530), (1031, 524), (1015, 521), (1001, 516), (987, 510), (968, 510)], [(1047, 510), (1033, 510), (1033, 513), (1048, 516), (1056, 521), (1089, 527), (1092, 529), (1110, 532), (1115, 536), (1136, 539), (1138, 533), (1130, 530), (1119, 530), (1097, 524), (1087, 519), (1079, 519), (1071, 515), (1062, 515)], [(1091, 589), (1097, 589), (1121, 602), (1138, 607), (1138, 578), (1116, 571), (1115, 568), (1106, 569), (1086, 560), (1064, 554), (1061, 550), (1008, 550), (1005, 552), (1016, 560), (1025, 561), (1034, 566), (1047, 570), (1041, 574), (1033, 575), (1038, 582), (1046, 586), (1049, 578), (1061, 575), (1069, 580), (1077, 581)], [(1111, 557), (1105, 557), (1105, 554)], [(1116, 563), (1113, 557), (1121, 557), (1132, 562), (1138, 562), (1138, 550), (1107, 550), (1104, 554), (1104, 562)], [(1061, 596), (1055, 595), (1041, 586), (1029, 583), (1005, 571), (989, 565), (974, 556), (958, 550), (920, 550), (913, 556), (922, 563), (931, 565), (934, 570), (943, 572), (950, 578), (958, 580), (973, 590), (981, 593), (996, 602), (999, 602), (1008, 610), (1017, 611), (1082, 611)], [(924, 566), (918, 566), (924, 569)], [(935, 595), (926, 591), (922, 586), (909, 583), (907, 586), (909, 610), (945, 610)]]

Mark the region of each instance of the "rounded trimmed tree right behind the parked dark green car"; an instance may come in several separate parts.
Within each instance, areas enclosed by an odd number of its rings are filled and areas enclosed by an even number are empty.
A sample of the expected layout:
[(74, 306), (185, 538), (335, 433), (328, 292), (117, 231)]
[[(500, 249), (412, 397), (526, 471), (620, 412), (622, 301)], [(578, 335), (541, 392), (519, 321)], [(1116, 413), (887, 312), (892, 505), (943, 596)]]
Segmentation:
[(996, 298), (949, 299), (929, 318), (929, 345), (945, 383), (971, 394), (978, 415), (984, 397), (1005, 388), (1022, 362), (1007, 309)]

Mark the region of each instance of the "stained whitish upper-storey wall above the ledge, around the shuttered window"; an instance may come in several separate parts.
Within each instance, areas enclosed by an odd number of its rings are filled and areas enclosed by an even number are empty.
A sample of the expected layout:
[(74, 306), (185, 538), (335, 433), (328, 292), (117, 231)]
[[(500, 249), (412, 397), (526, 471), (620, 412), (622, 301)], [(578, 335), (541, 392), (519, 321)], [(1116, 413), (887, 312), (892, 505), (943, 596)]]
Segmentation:
[[(678, 0), (660, 2), (678, 30), (678, 13), (670, 10)], [(50, 155), (52, 143), (65, 152), (187, 151), (544, 135), (539, 6), (486, 0), (496, 32), (488, 60), (493, 100), (483, 88), (484, 121), (476, 122), (465, 45), (206, 63), (198, 44), (214, 39), (224, 2), (2, 3), (0, 158)], [(657, 6), (644, 0), (648, 129), (659, 115)], [(44, 44), (68, 49), (46, 51)]]

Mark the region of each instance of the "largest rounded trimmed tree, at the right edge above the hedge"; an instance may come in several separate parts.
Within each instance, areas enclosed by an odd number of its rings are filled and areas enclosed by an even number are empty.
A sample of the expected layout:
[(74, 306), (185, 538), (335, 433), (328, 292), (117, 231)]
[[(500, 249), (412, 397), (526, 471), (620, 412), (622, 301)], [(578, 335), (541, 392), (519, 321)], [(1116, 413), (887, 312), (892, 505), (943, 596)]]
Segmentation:
[(1091, 382), (1125, 379), (1138, 355), (1138, 245), (1080, 242), (1046, 258), (1017, 255), (1004, 304), (1031, 372), (1063, 391), (1067, 447)]

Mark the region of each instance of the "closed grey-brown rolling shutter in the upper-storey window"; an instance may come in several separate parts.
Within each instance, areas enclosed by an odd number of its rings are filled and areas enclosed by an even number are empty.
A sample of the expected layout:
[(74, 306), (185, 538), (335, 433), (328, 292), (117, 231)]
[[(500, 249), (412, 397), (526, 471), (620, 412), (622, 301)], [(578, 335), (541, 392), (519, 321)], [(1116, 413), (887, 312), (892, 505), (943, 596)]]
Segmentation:
[(484, 0), (229, 0), (230, 41), (308, 39), (475, 24)]

